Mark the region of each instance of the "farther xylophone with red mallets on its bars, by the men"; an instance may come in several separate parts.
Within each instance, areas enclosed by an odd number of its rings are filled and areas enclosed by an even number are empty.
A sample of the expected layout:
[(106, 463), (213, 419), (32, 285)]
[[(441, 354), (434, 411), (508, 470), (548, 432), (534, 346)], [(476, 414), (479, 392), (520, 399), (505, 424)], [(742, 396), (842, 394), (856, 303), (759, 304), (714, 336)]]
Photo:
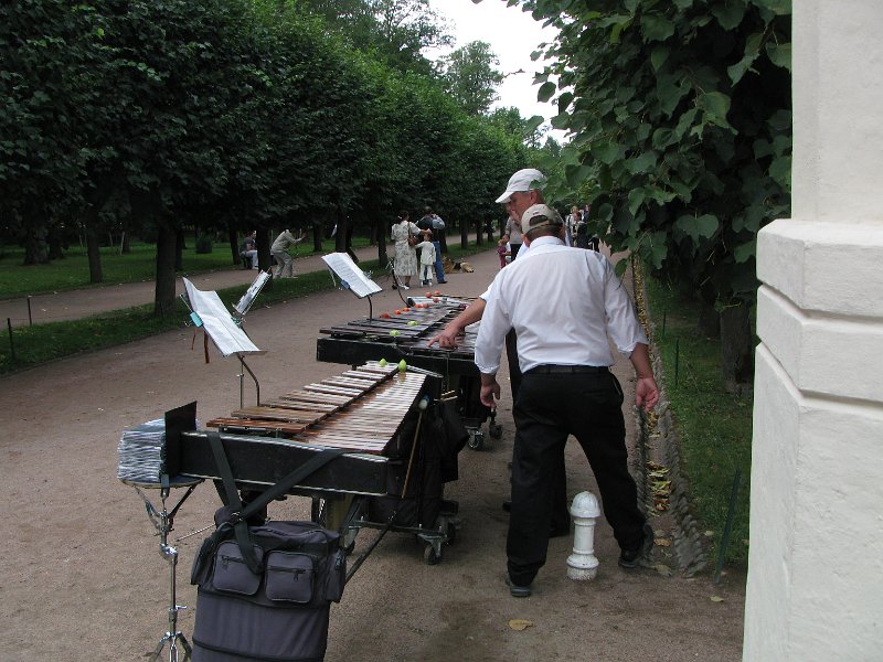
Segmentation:
[(445, 350), (428, 341), (474, 299), (451, 297), (412, 297), (407, 306), (320, 329), (316, 357), (329, 363), (355, 365), (363, 361), (405, 360), (408, 365), (444, 376), (445, 391), (456, 391), (457, 413), (470, 430), (469, 447), (480, 449), (485, 435), (481, 425), (490, 416), (489, 433), (499, 438), (501, 428), (493, 414), (479, 401), (480, 376), (475, 364), (478, 323), (466, 329), (456, 350)]

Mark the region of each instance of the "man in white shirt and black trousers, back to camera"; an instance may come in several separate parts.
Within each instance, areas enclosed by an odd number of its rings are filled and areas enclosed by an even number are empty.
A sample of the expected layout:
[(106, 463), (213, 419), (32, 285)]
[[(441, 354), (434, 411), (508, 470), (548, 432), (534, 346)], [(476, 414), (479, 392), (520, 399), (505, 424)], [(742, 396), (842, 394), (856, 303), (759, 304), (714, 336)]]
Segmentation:
[[(608, 366), (608, 335), (637, 372), (635, 401), (659, 401), (647, 337), (610, 261), (599, 253), (564, 245), (564, 222), (544, 204), (521, 217), (530, 252), (501, 269), (491, 284), (476, 340), (481, 402), (500, 396), (497, 371), (506, 334), (518, 333), (522, 382), (512, 414), (512, 512), (507, 538), (508, 576), (514, 597), (531, 595), (545, 564), (551, 489), (567, 436), (576, 437), (600, 491), (604, 514), (619, 543), (619, 565), (635, 568), (653, 534), (638, 508), (628, 472), (623, 389)], [(582, 282), (574, 297), (562, 282)]]

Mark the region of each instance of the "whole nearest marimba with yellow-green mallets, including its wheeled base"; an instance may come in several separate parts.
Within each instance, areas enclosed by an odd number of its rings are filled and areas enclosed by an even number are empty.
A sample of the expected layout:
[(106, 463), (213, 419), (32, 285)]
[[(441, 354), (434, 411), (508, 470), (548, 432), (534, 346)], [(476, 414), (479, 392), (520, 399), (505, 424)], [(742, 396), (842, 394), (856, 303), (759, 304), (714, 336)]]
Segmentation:
[[(413, 366), (402, 372), (397, 364), (369, 362), (258, 406), (235, 409), (227, 417), (208, 421), (206, 427), (217, 428), (240, 489), (263, 491), (281, 482), (316, 453), (342, 449), (343, 455), (290, 490), (313, 498), (313, 520), (321, 520), (330, 528), (340, 527), (350, 536), (348, 540), (363, 527), (414, 534), (427, 543), (427, 563), (438, 563), (442, 545), (453, 540), (458, 525), (456, 510), (439, 511), (434, 526), (375, 522), (363, 511), (372, 498), (403, 500), (407, 487), (416, 481), (413, 491), (417, 492), (417, 512), (432, 512), (422, 505), (427, 487), (419, 483), (422, 471), (415, 468), (412, 474), (411, 469), (415, 457), (417, 465), (424, 461), (423, 453), (413, 450), (417, 447), (421, 401), (437, 403), (440, 395), (439, 375)], [(429, 437), (423, 430), (419, 445)], [(195, 403), (166, 414), (166, 438), (170, 473), (223, 479), (208, 433), (195, 429)], [(451, 502), (440, 503), (440, 482), (434, 487), (436, 509), (450, 506)], [(351, 511), (357, 520), (348, 512), (349, 499), (343, 499), (350, 495), (360, 500), (359, 508)], [(317, 506), (325, 510), (322, 516)]]

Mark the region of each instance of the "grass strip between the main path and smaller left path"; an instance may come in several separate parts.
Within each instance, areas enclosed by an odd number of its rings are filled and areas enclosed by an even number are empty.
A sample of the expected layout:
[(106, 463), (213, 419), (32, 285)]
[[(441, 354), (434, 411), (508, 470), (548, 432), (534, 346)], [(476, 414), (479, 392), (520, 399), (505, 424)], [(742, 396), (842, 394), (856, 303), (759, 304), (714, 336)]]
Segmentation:
[[(482, 250), (487, 249), (487, 244)], [(451, 259), (477, 253), (475, 244), (466, 248), (450, 246)], [(377, 260), (362, 260), (359, 265), (365, 271), (373, 271), (381, 278), (383, 269)], [(295, 279), (276, 279), (270, 289), (264, 289), (259, 306), (283, 303), (313, 292), (331, 289), (333, 285), (326, 269), (299, 274)], [(389, 282), (382, 282), (387, 288)], [(221, 299), (232, 309), (240, 300), (247, 285), (219, 290)], [(13, 329), (12, 344), (7, 330), (0, 338), (0, 374), (34, 367), (50, 361), (63, 359), (82, 352), (120, 345), (170, 329), (181, 328), (189, 321), (189, 311), (178, 300), (174, 314), (166, 318), (153, 317), (153, 306), (138, 306), (116, 310), (70, 322), (52, 322)], [(341, 320), (343, 321), (343, 320)], [(14, 354), (14, 355), (13, 355)]]

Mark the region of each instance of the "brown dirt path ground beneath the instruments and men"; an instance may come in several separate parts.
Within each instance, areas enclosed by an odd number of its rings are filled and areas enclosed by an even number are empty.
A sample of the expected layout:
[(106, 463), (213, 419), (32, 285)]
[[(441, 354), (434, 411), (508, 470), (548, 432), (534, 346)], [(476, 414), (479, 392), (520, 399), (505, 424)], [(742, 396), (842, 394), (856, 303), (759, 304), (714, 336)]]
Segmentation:
[[(443, 286), (447, 293), (485, 290), (497, 256), (482, 254), (471, 263), (476, 271), (451, 275)], [(208, 289), (208, 284), (199, 287)], [(66, 296), (73, 306), (78, 293)], [(385, 290), (374, 297), (374, 311), (397, 302), (397, 293)], [(365, 302), (338, 290), (273, 308), (260, 308), (258, 299), (246, 328), (267, 350), (249, 360), (262, 395), (272, 397), (345, 370), (316, 361), (318, 329), (363, 314)], [(214, 352), (205, 364), (201, 343), (191, 350), (192, 340), (190, 329), (168, 332), (0, 378), (0, 660), (140, 660), (164, 633), (168, 566), (140, 498), (116, 478), (117, 444), (123, 430), (194, 399), (203, 421), (238, 406), (237, 362)], [(624, 386), (634, 384), (626, 361), (616, 370)], [(460, 503), (456, 543), (445, 547), (440, 564), (429, 566), (412, 536), (389, 534), (348, 584), (343, 600), (332, 606), (326, 659), (740, 660), (744, 577), (727, 575), (714, 585), (709, 576), (626, 573), (616, 564), (618, 549), (604, 521), (596, 527), (600, 567), (595, 580), (567, 578), (572, 538), (555, 538), (533, 596), (510, 597), (503, 584), (507, 514), (500, 504), (508, 491), (513, 425), (509, 393), (503, 392), (498, 414), (502, 439), (489, 440), (481, 451), (465, 449), (460, 479), (446, 489), (446, 496)], [(246, 389), (249, 399), (254, 393)], [(632, 421), (628, 397), (626, 408)], [(571, 442), (568, 492), (583, 490), (596, 491), (595, 483)], [(170, 505), (179, 494), (172, 493)], [(149, 495), (158, 503), (158, 494)], [(178, 604), (190, 606), (179, 621), (188, 638), (196, 602), (190, 565), (206, 535), (188, 534), (210, 526), (217, 505), (213, 487), (200, 485), (171, 534), (180, 553)], [(302, 519), (307, 512), (302, 498), (270, 506), (275, 519)], [(658, 536), (670, 535), (667, 517), (653, 525)], [(357, 554), (372, 536), (359, 534)], [(666, 563), (666, 548), (656, 547), (655, 556)], [(517, 631), (511, 619), (532, 626)]]

